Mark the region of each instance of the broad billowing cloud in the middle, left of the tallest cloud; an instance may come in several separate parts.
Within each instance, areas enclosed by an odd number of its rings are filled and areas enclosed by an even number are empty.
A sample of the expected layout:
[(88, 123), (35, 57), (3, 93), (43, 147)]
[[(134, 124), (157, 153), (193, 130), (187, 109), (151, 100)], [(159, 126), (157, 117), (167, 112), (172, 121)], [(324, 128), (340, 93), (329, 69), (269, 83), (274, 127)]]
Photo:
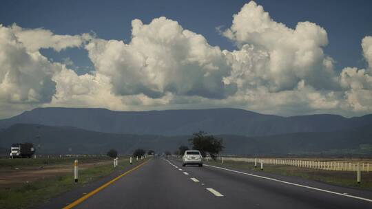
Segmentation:
[(129, 44), (96, 40), (86, 49), (96, 72), (110, 76), (117, 95), (226, 98), (236, 91), (235, 84), (223, 82), (231, 71), (220, 48), (165, 17), (148, 25), (132, 21)]

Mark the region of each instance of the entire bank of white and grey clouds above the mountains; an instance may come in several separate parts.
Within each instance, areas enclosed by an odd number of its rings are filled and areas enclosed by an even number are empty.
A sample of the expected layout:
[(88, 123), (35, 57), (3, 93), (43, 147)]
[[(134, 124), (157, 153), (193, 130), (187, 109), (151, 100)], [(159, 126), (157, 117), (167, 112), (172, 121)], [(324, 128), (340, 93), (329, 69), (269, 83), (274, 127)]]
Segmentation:
[[(288, 28), (254, 1), (234, 14), (223, 35), (236, 50), (211, 46), (204, 36), (165, 17), (148, 24), (133, 20), (128, 43), (1, 25), (0, 117), (39, 106), (372, 112), (372, 36), (361, 44), (365, 69), (334, 69), (335, 61), (322, 50), (328, 44), (324, 28), (310, 22)], [(78, 75), (39, 52), (67, 47), (87, 50), (94, 71)]]

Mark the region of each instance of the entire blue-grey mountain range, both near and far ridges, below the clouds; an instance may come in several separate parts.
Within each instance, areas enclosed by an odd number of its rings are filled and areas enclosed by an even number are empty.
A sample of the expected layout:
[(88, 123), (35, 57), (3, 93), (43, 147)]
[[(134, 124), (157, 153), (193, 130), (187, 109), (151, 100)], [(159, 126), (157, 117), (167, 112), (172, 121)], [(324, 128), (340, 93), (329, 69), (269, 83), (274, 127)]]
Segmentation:
[[(372, 115), (281, 117), (241, 109), (109, 111), (39, 108), (0, 120), (0, 147), (41, 144), (40, 153), (105, 153), (116, 148), (175, 151), (192, 133), (223, 138), (224, 154), (372, 155)], [(39, 137), (38, 137), (39, 136)]]

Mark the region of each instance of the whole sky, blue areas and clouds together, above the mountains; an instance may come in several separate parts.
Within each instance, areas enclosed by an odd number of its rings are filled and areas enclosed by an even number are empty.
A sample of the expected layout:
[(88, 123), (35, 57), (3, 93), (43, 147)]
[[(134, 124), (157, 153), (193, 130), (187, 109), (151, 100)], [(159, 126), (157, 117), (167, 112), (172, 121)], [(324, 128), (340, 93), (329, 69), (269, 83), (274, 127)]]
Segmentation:
[(36, 107), (372, 113), (371, 1), (2, 1), (0, 118)]

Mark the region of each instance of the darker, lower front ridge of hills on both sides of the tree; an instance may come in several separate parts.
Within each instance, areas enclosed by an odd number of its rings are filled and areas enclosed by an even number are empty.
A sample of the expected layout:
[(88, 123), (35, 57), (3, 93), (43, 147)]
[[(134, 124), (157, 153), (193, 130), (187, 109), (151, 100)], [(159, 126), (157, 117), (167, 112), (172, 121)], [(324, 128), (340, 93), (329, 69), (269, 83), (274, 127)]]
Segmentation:
[[(119, 153), (130, 154), (136, 148), (153, 149), (158, 152), (175, 151), (181, 144), (188, 145), (188, 135), (126, 135), (85, 131), (72, 127), (41, 126), (41, 140), (37, 140), (38, 125), (15, 124), (0, 131), (0, 146), (9, 147), (14, 142), (41, 144), (41, 153), (105, 153), (116, 148)], [(236, 155), (287, 155), (323, 153), (344, 150), (355, 154), (362, 144), (369, 144), (369, 151), (358, 154), (372, 155), (372, 129), (357, 129), (328, 133), (290, 133), (265, 137), (242, 135), (217, 135), (224, 139), (225, 154)], [(72, 152), (69, 151), (72, 148)], [(346, 150), (346, 151), (345, 151)]]

